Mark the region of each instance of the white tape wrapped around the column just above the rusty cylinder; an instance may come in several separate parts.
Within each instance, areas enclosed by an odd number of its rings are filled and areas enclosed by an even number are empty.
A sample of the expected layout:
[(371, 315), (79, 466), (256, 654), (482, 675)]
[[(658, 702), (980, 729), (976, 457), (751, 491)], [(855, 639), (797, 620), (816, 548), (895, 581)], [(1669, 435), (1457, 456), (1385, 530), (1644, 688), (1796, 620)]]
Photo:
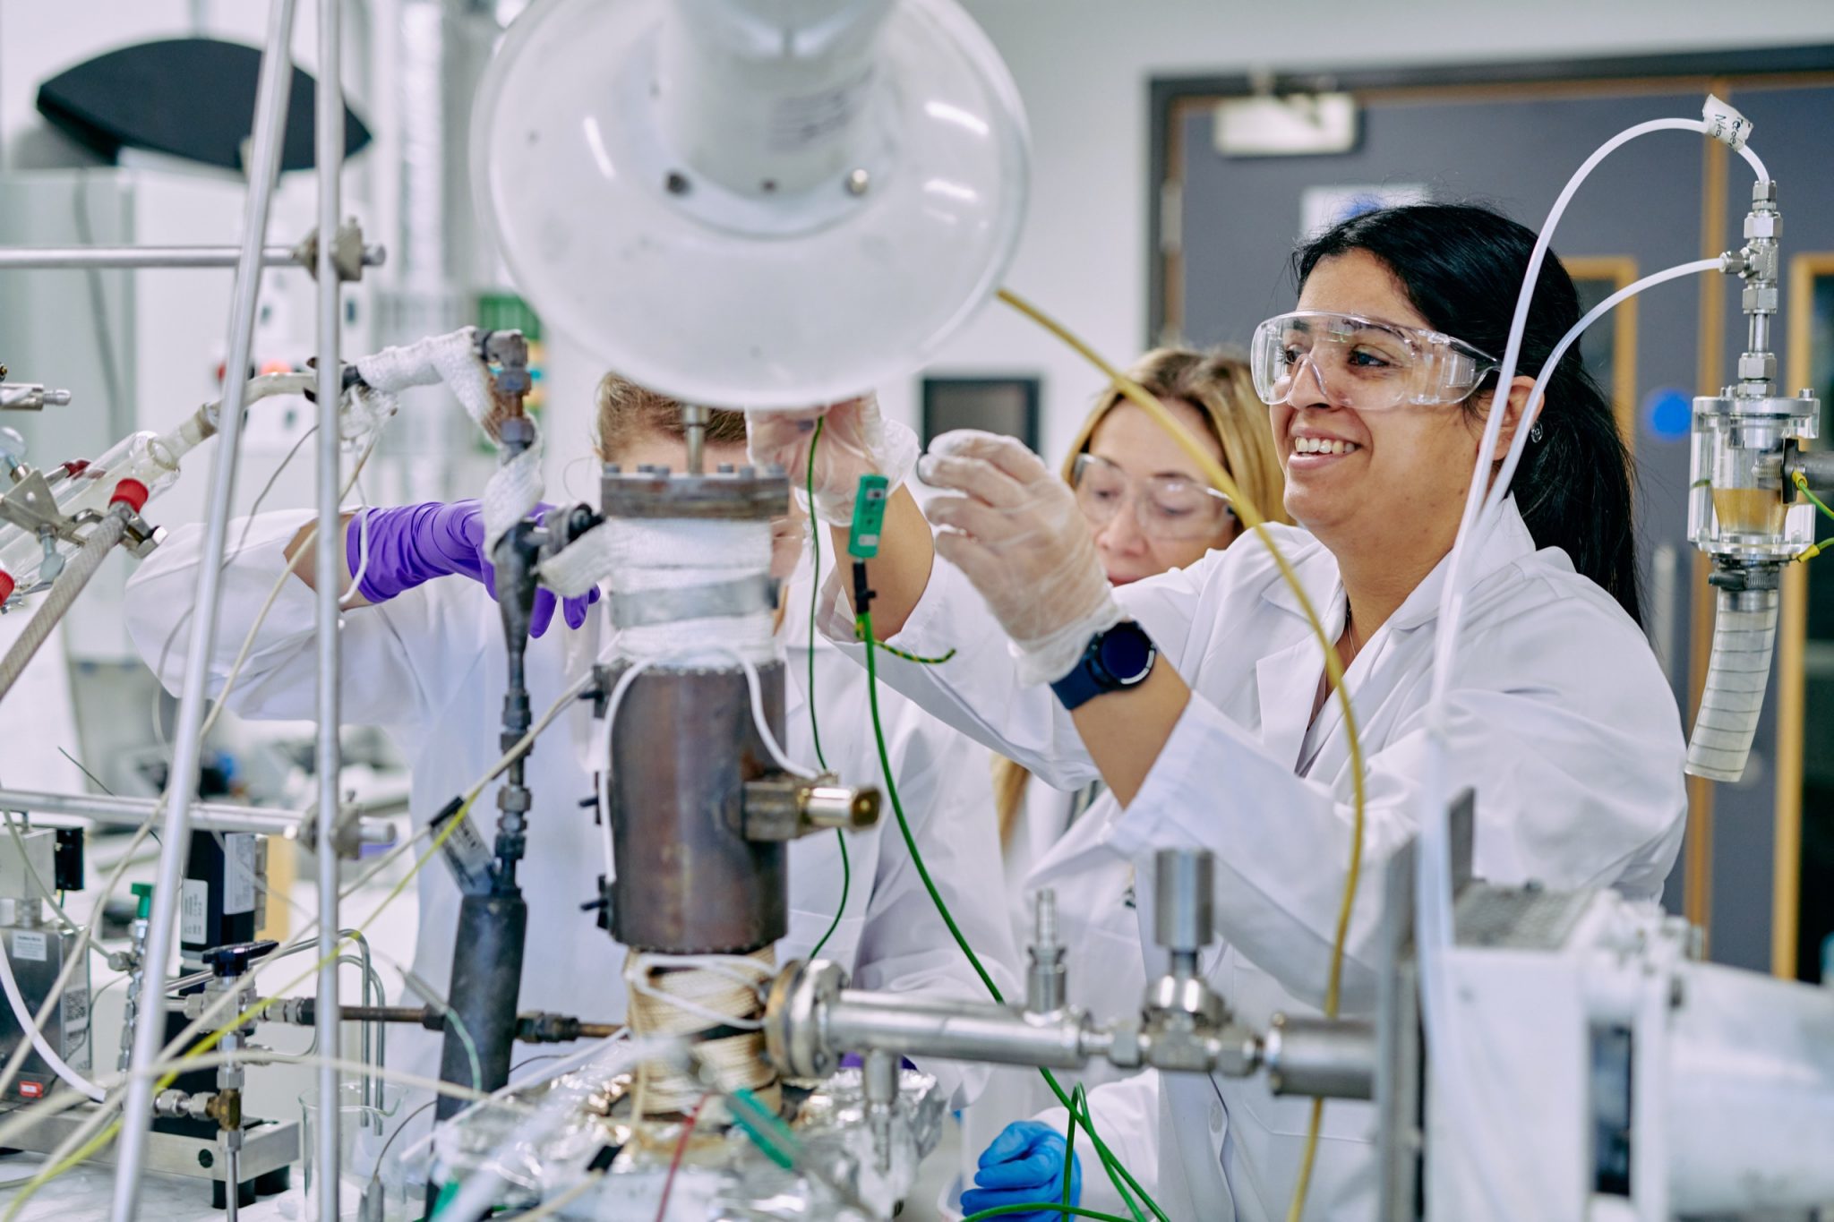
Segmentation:
[[(605, 557), (618, 594), (712, 586), (770, 572), (770, 522), (611, 518), (603, 528), (611, 531)], [(778, 656), (767, 610), (631, 627), (618, 634), (618, 652), (706, 667), (726, 667), (734, 658), (765, 665)]]

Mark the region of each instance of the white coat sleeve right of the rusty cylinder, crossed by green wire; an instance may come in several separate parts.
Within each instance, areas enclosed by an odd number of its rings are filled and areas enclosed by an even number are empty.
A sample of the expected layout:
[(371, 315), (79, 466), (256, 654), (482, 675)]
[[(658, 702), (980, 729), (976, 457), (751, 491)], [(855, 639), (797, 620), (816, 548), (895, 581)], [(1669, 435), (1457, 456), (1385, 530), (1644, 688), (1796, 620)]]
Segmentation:
[[(855, 977), (860, 987), (923, 993), (961, 1000), (992, 1000), (943, 923), (911, 861), (891, 808), (891, 780), (923, 852), (930, 878), (961, 934), (1007, 998), (1020, 991), (1016, 955), (1005, 911), (1000, 834), (987, 753), (893, 693), (878, 694), (891, 777), (877, 758), (869, 724), (862, 726), (871, 768), (862, 777), (880, 782), (884, 802), (873, 896), (860, 931)], [(860, 711), (864, 722), (864, 711)], [(987, 1085), (985, 1064), (926, 1061), (926, 1072), (952, 1092), (963, 1108)]]

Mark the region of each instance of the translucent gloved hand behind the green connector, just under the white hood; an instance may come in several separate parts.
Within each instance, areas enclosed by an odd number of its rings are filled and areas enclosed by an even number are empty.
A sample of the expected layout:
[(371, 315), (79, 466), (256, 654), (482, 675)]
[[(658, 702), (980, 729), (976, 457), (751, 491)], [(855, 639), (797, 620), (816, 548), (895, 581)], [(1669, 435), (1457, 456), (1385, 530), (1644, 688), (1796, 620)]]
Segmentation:
[(809, 509), (809, 445), (814, 421), (822, 443), (814, 449), (814, 517), (831, 526), (853, 524), (853, 500), (862, 475), (882, 475), (891, 487), (902, 484), (917, 464), (917, 434), (878, 414), (871, 394), (800, 412), (746, 412), (746, 449), (756, 467), (783, 467), (796, 504)]

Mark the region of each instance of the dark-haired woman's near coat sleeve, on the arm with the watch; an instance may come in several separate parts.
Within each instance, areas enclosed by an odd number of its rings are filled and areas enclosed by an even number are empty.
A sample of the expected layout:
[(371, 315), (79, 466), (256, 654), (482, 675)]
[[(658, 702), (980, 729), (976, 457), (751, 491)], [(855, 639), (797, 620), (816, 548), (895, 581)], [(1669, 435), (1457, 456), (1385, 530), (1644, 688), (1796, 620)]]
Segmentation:
[[(1517, 632), (1460, 658), (1449, 693), (1447, 795), (1475, 788), (1476, 870), (1553, 890), (1610, 885), (1674, 841), (1685, 810), (1682, 735), (1667, 683), (1629, 619), (1581, 601), (1524, 608)], [(1504, 638), (1506, 643), (1495, 643)], [(1388, 746), (1366, 757), (1361, 885), (1342, 1004), (1374, 1004), (1381, 870), (1421, 815), (1429, 768), (1425, 672)], [(1289, 995), (1324, 1000), (1355, 824), (1353, 791), (1297, 777), (1192, 694), (1110, 846), (1150, 876), (1159, 848), (1216, 857), (1216, 931)], [(1671, 850), (1673, 852), (1673, 850)], [(1223, 982), (1229, 987), (1229, 982)]]

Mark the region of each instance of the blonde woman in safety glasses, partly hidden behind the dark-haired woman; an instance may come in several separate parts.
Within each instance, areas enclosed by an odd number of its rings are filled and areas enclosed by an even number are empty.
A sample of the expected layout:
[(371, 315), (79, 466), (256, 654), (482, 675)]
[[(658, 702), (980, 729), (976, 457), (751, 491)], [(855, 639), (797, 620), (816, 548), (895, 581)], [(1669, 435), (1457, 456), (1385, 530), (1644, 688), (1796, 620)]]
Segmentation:
[[(1128, 376), (1209, 445), (1243, 495), (1287, 520), (1278, 509), (1284, 482), (1267, 409), (1254, 394), (1243, 359), (1225, 352), (1155, 348)], [(1113, 388), (1077, 431), (1064, 460), (1064, 480), (1077, 491), (1102, 568), (1117, 586), (1188, 568), (1227, 548), (1242, 531), (1190, 456)], [(1133, 870), (1102, 848), (1106, 819), (1082, 819), (1097, 795), (1099, 782), (1064, 793), (1023, 766), (994, 757), (994, 804), (1018, 945), (1031, 940), (1038, 890), (1053, 889), (1062, 942), (1069, 947), (1071, 1002), (1108, 1019), (1139, 1006), (1146, 969), (1133, 909)], [(1095, 1086), (1121, 1075), (1091, 1064), (1078, 1079)], [(987, 1145), (981, 1138), (1053, 1105), (1038, 1074), (1000, 1070), (983, 1101), (968, 1112), (963, 1147), (979, 1152)], [(1146, 1125), (1152, 1121), (1152, 1116), (1143, 1118)]]

